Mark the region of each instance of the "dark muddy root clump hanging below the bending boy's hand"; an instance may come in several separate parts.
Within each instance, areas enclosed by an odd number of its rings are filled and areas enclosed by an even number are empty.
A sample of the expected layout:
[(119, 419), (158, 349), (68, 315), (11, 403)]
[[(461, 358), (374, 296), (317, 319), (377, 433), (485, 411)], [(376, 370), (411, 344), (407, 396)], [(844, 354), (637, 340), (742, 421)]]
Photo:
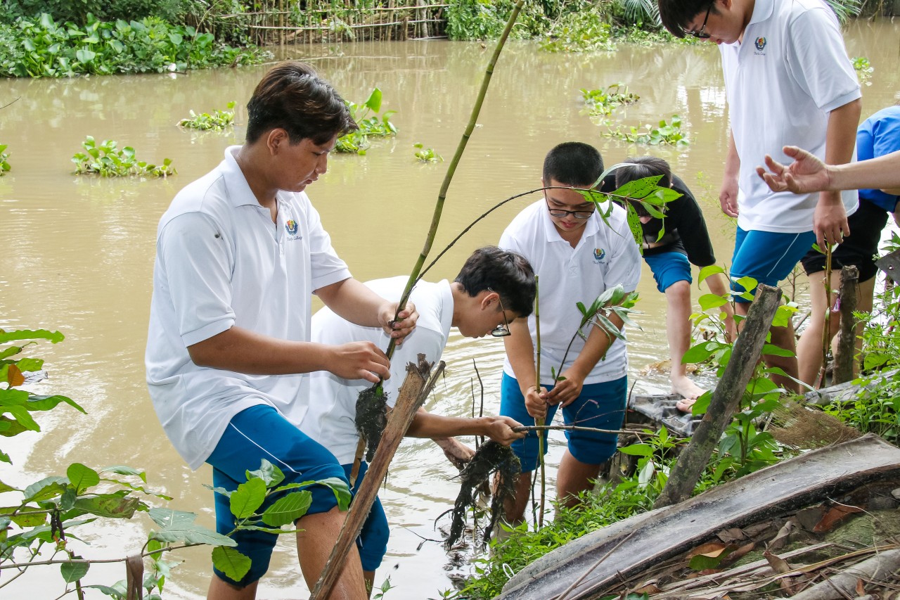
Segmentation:
[(482, 444), (482, 447), (469, 460), (469, 464), (459, 474), (462, 485), (452, 511), (450, 533), (444, 541), (447, 550), (453, 548), (463, 536), (465, 515), (470, 508), (474, 508), (476, 490), (489, 480), (491, 474), (497, 473), (497, 477), (494, 479), (495, 489), (491, 498), (491, 521), (483, 535), (483, 540), (491, 539), (494, 526), (500, 522), (500, 517), (503, 516), (504, 503), (516, 493), (516, 481), (521, 470), (518, 457), (509, 446), (493, 440)]

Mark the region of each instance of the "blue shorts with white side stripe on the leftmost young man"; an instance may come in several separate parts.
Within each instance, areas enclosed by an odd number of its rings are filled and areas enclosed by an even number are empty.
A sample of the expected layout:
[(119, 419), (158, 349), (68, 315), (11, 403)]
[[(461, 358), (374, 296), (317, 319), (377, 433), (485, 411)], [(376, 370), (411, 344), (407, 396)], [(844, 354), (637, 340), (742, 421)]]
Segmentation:
[[(329, 450), (301, 432), (272, 406), (256, 405), (231, 418), (209, 459), (212, 466), (212, 485), (233, 491), (247, 481), (246, 472), (257, 470), (266, 459), (284, 472), (284, 482), (301, 483), (312, 479), (338, 477), (347, 483), (344, 469)], [(349, 485), (349, 484), (347, 484)], [(307, 514), (327, 513), (338, 505), (334, 493), (326, 486), (309, 486), (312, 504)], [(270, 495), (259, 509), (265, 511), (282, 494)], [(229, 498), (215, 494), (216, 531), (225, 535), (234, 530)], [(223, 581), (244, 587), (266, 574), (269, 559), (278, 536), (275, 533), (240, 531), (231, 536), (238, 542), (238, 550), (251, 561), (250, 570), (240, 581), (234, 581), (218, 569), (215, 574)]]

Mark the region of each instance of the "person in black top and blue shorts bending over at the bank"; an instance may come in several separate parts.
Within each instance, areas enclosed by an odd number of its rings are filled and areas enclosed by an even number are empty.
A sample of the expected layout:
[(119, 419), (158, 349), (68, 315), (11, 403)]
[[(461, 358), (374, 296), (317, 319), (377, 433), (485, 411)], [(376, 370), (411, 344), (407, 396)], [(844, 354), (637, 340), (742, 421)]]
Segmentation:
[[(671, 359), (669, 378), (672, 394), (684, 398), (677, 406), (679, 410), (689, 412), (691, 405), (704, 392), (691, 381), (688, 366), (681, 362), (690, 345), (690, 266), (704, 268), (716, 264), (713, 242), (709, 238), (700, 205), (680, 177), (672, 174), (668, 162), (654, 156), (628, 158), (625, 162), (630, 164), (617, 168), (604, 179), (604, 192), (615, 191), (635, 179), (660, 176), (658, 186), (671, 187), (681, 195), (664, 205), (662, 211), (665, 217), (662, 219), (647, 213), (638, 202), (632, 201), (631, 205), (641, 219), (644, 262), (653, 272), (656, 289), (666, 295), (666, 336)], [(713, 294), (728, 294), (727, 282), (721, 273), (710, 275), (706, 281)], [(728, 332), (734, 334), (731, 305), (724, 305), (722, 310)]]

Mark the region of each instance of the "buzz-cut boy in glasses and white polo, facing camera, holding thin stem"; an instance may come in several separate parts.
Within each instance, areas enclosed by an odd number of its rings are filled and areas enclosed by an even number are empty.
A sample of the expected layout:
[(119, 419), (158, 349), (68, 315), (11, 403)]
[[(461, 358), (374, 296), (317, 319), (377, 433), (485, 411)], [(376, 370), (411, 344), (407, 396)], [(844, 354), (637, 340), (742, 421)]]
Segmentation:
[[(609, 287), (634, 291), (641, 256), (625, 210), (613, 205), (607, 223), (595, 206), (572, 189), (590, 189), (603, 173), (603, 159), (592, 146), (569, 141), (544, 161), (544, 197), (519, 213), (500, 237), (500, 247), (525, 256), (539, 276), (541, 373), (536, 377), (536, 317), (511, 323), (500, 386), (500, 414), (521, 423), (550, 423), (563, 407), (566, 424), (618, 430), (626, 407), (628, 360), (623, 341), (591, 326), (579, 335), (581, 312)], [(619, 329), (615, 314), (609, 320)], [(555, 377), (554, 377), (555, 376)], [(545, 436), (546, 432), (542, 432)], [(566, 432), (568, 447), (556, 488), (563, 505), (578, 503), (593, 486), (599, 468), (616, 451), (615, 433)], [(521, 522), (537, 464), (536, 432), (512, 444), (522, 462), (516, 498), (506, 506), (510, 523)], [(546, 444), (545, 444), (546, 451)]]

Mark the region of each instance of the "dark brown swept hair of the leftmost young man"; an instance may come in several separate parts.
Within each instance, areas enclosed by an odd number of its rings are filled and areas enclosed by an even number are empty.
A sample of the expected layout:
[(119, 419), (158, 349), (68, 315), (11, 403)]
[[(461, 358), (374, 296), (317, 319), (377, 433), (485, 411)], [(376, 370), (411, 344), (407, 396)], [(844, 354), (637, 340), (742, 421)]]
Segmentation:
[(358, 129), (347, 103), (316, 70), (298, 60), (271, 68), (247, 103), (247, 143), (282, 128), (292, 144), (321, 145)]

